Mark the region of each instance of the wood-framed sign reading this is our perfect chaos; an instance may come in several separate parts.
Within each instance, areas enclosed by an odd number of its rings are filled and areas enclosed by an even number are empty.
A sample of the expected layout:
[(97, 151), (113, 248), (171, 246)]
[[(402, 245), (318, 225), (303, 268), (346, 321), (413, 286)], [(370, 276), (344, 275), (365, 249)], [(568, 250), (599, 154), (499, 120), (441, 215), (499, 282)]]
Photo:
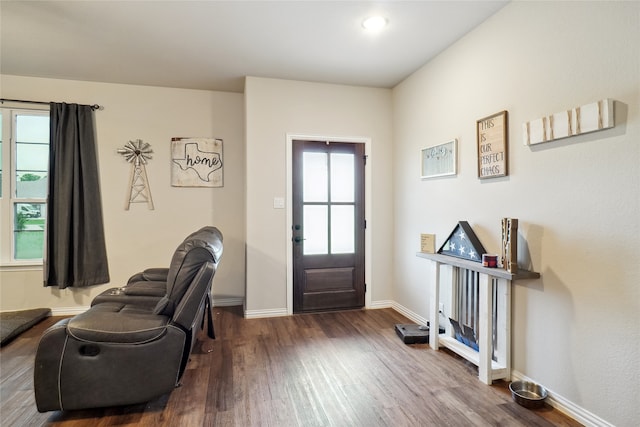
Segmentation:
[(501, 111), (476, 122), (478, 178), (507, 176), (508, 113)]

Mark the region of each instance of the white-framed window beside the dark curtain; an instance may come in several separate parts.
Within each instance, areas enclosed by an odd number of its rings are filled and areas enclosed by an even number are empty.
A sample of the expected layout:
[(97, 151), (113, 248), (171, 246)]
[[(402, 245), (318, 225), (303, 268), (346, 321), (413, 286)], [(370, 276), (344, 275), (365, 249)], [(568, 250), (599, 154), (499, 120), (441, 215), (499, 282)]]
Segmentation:
[(41, 263), (49, 112), (2, 108), (0, 119), (0, 264)]

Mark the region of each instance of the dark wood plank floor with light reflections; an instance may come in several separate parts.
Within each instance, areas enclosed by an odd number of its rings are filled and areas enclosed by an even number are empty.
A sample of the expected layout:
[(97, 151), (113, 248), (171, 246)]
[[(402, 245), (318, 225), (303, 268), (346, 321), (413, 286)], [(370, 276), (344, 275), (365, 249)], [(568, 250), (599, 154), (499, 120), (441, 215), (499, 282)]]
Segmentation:
[(148, 404), (40, 414), (33, 359), (49, 318), (0, 350), (3, 426), (577, 426), (557, 410), (523, 408), (507, 384), (482, 384), (448, 351), (404, 345), (412, 323), (391, 309), (244, 319), (214, 308), (170, 395)]

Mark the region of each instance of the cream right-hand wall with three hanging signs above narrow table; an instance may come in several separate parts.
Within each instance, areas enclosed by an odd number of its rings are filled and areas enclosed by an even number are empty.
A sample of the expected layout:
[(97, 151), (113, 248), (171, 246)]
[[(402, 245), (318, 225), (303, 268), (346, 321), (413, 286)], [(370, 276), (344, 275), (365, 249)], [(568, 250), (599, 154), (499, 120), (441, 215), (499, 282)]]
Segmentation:
[[(519, 218), (542, 277), (513, 287), (513, 368), (618, 426), (640, 421), (639, 8), (512, 2), (393, 93), (395, 300), (428, 316), (420, 233), (439, 247), (467, 220), (500, 253), (500, 219)], [(523, 122), (603, 98), (614, 129), (523, 145)], [(475, 123), (501, 110), (510, 173), (480, 181)], [(421, 181), (420, 149), (452, 138), (458, 175)]]

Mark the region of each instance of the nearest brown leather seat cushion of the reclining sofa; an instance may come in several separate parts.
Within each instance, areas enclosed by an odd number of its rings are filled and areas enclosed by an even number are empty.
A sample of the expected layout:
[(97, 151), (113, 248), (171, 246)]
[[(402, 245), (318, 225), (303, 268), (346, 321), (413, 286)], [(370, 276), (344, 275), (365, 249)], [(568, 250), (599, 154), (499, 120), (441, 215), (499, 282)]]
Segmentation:
[(142, 344), (164, 335), (169, 320), (140, 307), (110, 302), (73, 317), (67, 332), (86, 342)]

